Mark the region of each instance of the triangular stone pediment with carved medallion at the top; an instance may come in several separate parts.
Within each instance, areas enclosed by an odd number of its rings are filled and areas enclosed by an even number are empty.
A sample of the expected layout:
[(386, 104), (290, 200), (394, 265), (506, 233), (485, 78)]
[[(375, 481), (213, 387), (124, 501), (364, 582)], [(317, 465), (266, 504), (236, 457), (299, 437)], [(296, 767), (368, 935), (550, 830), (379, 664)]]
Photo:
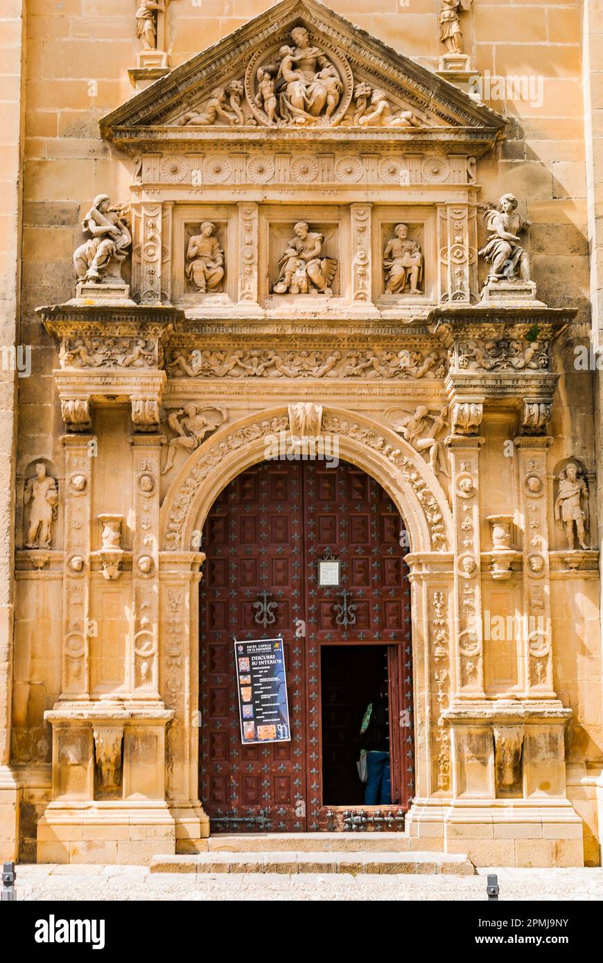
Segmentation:
[(117, 143), (157, 129), (395, 140), (456, 129), (496, 139), (502, 117), (316, 0), (282, 0), (101, 121)]

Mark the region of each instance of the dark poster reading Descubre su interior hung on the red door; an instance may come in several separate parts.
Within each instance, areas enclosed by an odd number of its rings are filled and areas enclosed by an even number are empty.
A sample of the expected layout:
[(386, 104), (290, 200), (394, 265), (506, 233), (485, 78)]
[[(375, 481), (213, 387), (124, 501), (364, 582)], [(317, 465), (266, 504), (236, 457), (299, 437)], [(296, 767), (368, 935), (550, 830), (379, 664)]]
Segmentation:
[(289, 703), (282, 638), (234, 642), (241, 740), (290, 742)]

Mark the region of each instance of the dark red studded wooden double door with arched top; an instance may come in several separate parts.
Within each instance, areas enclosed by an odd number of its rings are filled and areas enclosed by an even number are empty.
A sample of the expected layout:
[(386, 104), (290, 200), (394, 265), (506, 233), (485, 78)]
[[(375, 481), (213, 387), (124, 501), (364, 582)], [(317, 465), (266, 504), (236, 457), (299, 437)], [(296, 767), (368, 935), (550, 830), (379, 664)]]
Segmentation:
[[(199, 795), (212, 832), (403, 828), (414, 786), (405, 544), (389, 497), (346, 462), (266, 461), (223, 490), (203, 531), (199, 610)], [(340, 585), (320, 587), (329, 555)], [(278, 635), (291, 742), (244, 746), (233, 638)], [(392, 801), (364, 807), (356, 740), (380, 688)]]

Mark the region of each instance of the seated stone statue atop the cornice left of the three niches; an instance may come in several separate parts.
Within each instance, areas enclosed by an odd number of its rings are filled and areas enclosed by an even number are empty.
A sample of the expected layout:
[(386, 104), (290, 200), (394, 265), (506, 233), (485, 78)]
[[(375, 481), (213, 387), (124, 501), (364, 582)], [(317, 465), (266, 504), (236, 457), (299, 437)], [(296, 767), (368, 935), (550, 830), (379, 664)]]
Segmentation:
[(132, 235), (123, 208), (110, 205), (109, 195), (97, 195), (82, 221), (82, 230), (91, 237), (73, 253), (73, 265), (80, 281), (98, 284), (106, 277), (123, 283), (121, 262), (127, 257)]

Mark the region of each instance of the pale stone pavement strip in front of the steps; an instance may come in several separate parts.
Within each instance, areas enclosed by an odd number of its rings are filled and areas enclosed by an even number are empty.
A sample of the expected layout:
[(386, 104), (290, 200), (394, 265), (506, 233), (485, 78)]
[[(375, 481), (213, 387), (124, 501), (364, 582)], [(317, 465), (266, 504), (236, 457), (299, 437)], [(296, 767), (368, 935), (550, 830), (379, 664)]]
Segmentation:
[(475, 876), (296, 876), (149, 873), (144, 866), (18, 866), (18, 899), (483, 899), (485, 876), (496, 872), (501, 900), (603, 899), (603, 869), (481, 869)]

